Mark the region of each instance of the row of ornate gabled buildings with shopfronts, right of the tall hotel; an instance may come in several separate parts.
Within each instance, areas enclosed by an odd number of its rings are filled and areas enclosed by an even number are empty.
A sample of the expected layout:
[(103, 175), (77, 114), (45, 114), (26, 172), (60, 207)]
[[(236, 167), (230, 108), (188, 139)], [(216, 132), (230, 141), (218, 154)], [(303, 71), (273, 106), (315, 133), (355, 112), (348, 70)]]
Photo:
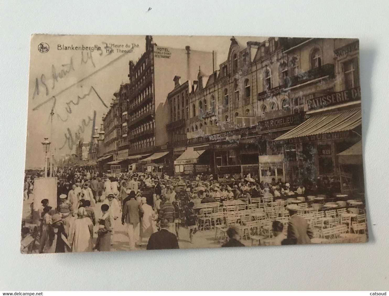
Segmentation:
[[(244, 47), (231, 38), (220, 71), (199, 71), (192, 84), (174, 78), (167, 129), (175, 173), (338, 178), (337, 154), (360, 140), (358, 49), (351, 39), (272, 37)], [(186, 91), (182, 120), (174, 98)], [(317, 121), (328, 130), (315, 132)]]

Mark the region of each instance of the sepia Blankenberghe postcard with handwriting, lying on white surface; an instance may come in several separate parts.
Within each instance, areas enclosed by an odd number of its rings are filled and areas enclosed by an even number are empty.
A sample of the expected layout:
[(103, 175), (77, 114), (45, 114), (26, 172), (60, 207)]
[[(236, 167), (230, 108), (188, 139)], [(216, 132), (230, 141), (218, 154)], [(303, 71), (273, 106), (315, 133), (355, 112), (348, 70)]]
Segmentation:
[(28, 90), (22, 253), (368, 240), (358, 39), (33, 35)]

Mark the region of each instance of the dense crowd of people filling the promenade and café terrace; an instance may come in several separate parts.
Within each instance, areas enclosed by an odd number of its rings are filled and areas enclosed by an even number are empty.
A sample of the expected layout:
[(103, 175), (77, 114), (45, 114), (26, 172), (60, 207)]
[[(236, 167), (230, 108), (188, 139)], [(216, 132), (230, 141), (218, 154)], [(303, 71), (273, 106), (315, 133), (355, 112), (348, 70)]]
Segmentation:
[[(266, 183), (250, 175), (238, 179), (227, 176), (223, 182), (212, 174), (186, 179), (147, 173), (106, 175), (92, 167), (60, 168), (55, 176), (58, 178), (56, 212), (53, 213), (47, 199), (41, 201), (39, 209), (40, 253), (110, 251), (117, 241), (120, 222), (126, 227), (130, 250), (143, 243), (147, 249), (179, 248), (180, 227), (187, 229), (191, 243), (198, 231), (202, 210), (195, 205), (229, 200), (249, 202), (259, 196), (315, 194), (320, 190), (318, 183), (324, 184), (318, 180), (310, 183), (309, 188), (303, 184), (293, 188), (280, 178)], [(32, 175), (25, 180), (29, 184), (25, 184), (25, 199), (32, 191), (33, 179)], [(293, 206), (288, 208), (289, 237), (285, 236), (282, 223), (275, 221), (272, 225), (277, 244), (305, 244), (312, 237), (308, 223), (296, 215)], [(94, 233), (97, 234), (95, 243)], [(223, 246), (244, 246), (238, 228), (230, 227), (227, 235), (229, 241)]]

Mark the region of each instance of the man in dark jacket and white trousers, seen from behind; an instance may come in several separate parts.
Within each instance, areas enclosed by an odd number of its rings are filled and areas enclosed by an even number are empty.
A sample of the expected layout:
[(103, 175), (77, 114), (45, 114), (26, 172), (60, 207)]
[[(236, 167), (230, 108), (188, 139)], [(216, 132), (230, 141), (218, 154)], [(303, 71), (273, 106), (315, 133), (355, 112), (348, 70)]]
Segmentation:
[(139, 243), (139, 213), (144, 213), (141, 204), (131, 195), (123, 206), (122, 224), (126, 223), (130, 250), (135, 250), (135, 242)]

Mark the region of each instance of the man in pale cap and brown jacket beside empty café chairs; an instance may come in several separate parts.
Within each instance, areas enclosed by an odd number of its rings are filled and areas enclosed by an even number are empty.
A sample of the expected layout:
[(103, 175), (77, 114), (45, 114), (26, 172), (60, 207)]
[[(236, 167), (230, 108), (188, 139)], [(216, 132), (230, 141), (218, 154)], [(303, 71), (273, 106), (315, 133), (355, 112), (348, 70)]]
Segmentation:
[(287, 207), (289, 211), (289, 222), (287, 230), (287, 239), (292, 244), (310, 244), (314, 236), (309, 227), (307, 220), (297, 215), (300, 209), (296, 204), (289, 204)]

